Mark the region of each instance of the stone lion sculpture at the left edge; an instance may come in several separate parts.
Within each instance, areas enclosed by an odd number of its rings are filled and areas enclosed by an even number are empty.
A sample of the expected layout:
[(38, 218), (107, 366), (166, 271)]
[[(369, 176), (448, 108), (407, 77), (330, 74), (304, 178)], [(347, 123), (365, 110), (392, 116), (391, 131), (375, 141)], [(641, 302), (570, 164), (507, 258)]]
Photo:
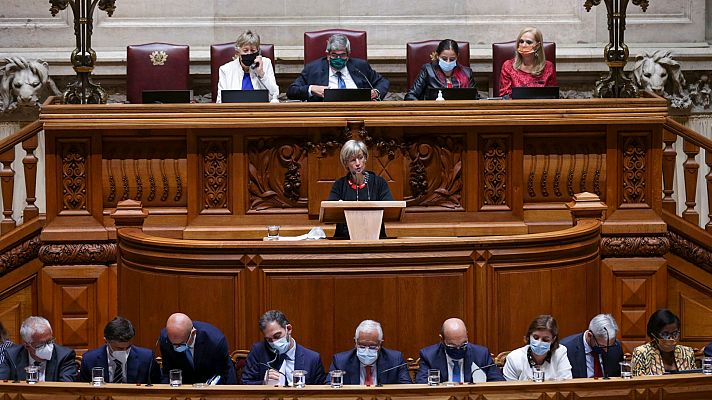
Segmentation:
[(43, 60), (27, 61), (23, 57), (8, 57), (0, 67), (0, 112), (17, 107), (37, 107), (48, 95), (61, 95)]

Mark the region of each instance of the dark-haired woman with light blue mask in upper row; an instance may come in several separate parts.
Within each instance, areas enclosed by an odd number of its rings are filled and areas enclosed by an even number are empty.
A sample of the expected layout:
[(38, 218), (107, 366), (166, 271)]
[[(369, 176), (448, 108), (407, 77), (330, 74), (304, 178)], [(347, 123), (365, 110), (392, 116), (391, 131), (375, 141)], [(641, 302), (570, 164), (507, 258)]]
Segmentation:
[(475, 80), (472, 69), (460, 65), (457, 56), (460, 48), (452, 39), (445, 39), (438, 44), (430, 58), (431, 62), (424, 64), (420, 74), (415, 78), (413, 87), (405, 95), (406, 100), (423, 100), (428, 89), (443, 88), (473, 88)]

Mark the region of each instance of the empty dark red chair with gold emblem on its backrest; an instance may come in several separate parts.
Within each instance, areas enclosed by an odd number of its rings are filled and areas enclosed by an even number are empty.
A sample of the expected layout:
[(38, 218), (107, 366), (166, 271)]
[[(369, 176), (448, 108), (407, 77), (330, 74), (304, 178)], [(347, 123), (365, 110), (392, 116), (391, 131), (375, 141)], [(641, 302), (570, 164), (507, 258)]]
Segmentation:
[[(161, 52), (165, 52), (165, 59)], [(144, 90), (188, 90), (189, 71), (190, 49), (187, 45), (148, 43), (128, 46), (126, 98), (138, 104), (142, 102)]]

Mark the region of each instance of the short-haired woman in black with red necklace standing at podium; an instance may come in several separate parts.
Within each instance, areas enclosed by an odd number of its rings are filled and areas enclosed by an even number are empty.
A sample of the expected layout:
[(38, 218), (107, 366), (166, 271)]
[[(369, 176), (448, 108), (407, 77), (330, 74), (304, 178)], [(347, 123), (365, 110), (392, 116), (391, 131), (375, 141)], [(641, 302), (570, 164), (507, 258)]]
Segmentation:
[[(331, 186), (328, 200), (344, 201), (391, 201), (393, 195), (388, 182), (372, 171), (366, 170), (368, 149), (358, 140), (344, 143), (339, 156), (341, 165), (347, 170), (345, 176), (337, 179)], [(349, 239), (346, 224), (336, 224), (334, 237)], [(386, 227), (381, 223), (381, 238), (386, 237)]]

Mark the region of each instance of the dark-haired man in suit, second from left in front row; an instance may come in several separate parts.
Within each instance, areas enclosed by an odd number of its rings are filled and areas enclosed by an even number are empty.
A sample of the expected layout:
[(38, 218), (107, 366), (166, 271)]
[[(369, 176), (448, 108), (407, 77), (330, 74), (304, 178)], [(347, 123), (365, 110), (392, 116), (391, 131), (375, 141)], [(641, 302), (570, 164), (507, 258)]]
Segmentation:
[(104, 368), (104, 381), (111, 383), (160, 383), (161, 368), (153, 351), (134, 346), (131, 321), (116, 317), (104, 327), (106, 344), (82, 357), (79, 380), (91, 382), (91, 370)]

